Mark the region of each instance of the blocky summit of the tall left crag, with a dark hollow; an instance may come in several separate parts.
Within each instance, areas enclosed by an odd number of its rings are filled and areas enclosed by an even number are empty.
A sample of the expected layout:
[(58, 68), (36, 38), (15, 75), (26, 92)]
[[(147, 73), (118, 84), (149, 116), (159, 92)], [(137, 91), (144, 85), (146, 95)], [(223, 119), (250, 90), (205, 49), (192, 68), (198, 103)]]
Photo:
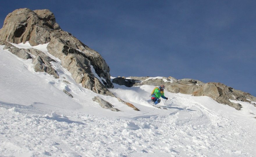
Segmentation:
[(60, 27), (55, 22), (53, 13), (47, 9), (35, 11), (28, 8), (17, 9), (5, 18), (3, 28), (0, 30), (0, 40), (12, 43), (29, 41), (35, 46), (49, 42), (50, 32), (58, 29)]

